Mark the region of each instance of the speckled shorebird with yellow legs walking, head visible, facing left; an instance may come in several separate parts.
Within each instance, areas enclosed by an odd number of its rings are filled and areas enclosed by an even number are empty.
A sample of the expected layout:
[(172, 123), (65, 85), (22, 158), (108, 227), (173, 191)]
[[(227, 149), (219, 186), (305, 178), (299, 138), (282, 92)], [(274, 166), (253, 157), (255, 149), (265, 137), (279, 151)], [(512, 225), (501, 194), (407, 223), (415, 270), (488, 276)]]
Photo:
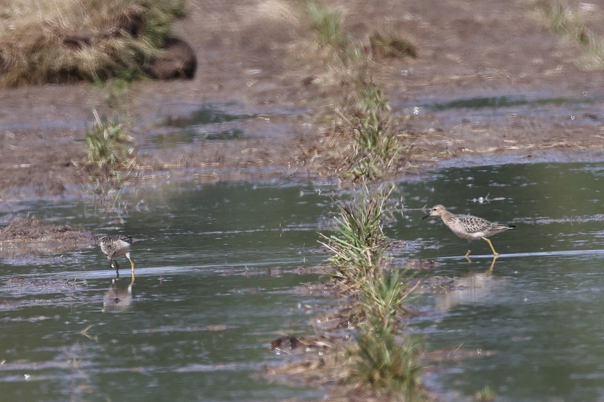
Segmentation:
[(487, 237), (515, 228), (514, 225), (497, 224), (483, 218), (478, 218), (478, 216), (474, 215), (451, 213), (440, 204), (432, 207), (430, 213), (422, 219), (428, 218), (428, 216), (440, 216), (440, 218), (443, 219), (443, 222), (445, 222), (445, 225), (447, 225), (453, 233), (462, 239), (467, 240), (469, 250), (467, 250), (465, 257), (468, 261), (471, 261), (468, 256), (472, 251), (472, 240), (476, 239), (483, 239), (489, 243), (491, 250), (493, 250), (494, 261), (499, 256), (499, 253), (495, 251), (493, 243), (491, 243)]

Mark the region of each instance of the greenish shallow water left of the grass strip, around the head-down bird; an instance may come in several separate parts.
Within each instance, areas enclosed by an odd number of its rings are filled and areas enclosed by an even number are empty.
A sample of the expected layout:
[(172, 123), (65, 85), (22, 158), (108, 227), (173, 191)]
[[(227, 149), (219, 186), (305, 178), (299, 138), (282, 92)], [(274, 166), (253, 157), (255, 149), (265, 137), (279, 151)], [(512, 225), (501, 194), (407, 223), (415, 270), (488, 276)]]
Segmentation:
[(312, 306), (324, 300), (292, 290), (318, 280), (297, 269), (324, 259), (312, 248), (329, 197), (288, 183), (172, 187), (129, 197), (138, 205), (116, 211), (85, 203), (23, 206), (39, 217), (99, 233), (121, 228), (144, 241), (132, 247), (131, 295), (129, 264), (120, 260), (118, 306), (115, 295), (105, 299), (115, 271), (98, 248), (53, 265), (2, 264), (2, 285), (17, 275), (68, 283), (48, 292), (3, 286), (0, 390), (7, 400), (321, 397), (252, 374), (278, 361), (272, 339), (312, 331)]

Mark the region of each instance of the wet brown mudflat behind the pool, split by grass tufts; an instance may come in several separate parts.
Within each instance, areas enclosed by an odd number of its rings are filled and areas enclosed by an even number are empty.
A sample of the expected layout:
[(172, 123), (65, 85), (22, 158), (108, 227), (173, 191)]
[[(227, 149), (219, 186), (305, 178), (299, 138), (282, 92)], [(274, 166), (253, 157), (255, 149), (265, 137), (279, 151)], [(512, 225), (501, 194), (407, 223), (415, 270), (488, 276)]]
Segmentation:
[[(470, 157), (460, 164), (604, 160), (604, 74), (577, 67), (583, 49), (544, 28), (534, 2), (337, 4), (357, 40), (390, 28), (417, 46), (416, 59), (379, 59), (372, 72), (394, 114), (411, 116), (406, 127), (422, 133), (417, 148), (435, 151), (418, 164), (451, 156)], [(582, 9), (578, 1), (569, 4)], [(196, 51), (194, 80), (136, 83), (123, 101), (146, 166), (141, 174), (194, 180), (326, 174), (320, 162), (330, 144), (314, 116), (341, 88), (316, 57), (313, 34), (294, 5), (207, 0), (188, 8), (178, 30)], [(603, 14), (604, 7), (591, 4), (581, 16), (602, 34), (593, 22)], [(79, 140), (92, 122), (92, 105), (111, 114), (109, 97), (90, 84), (0, 90), (0, 201), (77, 191), (88, 180), (78, 164)], [(477, 98), (516, 103), (501, 109), (454, 102)], [(162, 124), (203, 102), (258, 117), (242, 121), (243, 139), (152, 142)]]

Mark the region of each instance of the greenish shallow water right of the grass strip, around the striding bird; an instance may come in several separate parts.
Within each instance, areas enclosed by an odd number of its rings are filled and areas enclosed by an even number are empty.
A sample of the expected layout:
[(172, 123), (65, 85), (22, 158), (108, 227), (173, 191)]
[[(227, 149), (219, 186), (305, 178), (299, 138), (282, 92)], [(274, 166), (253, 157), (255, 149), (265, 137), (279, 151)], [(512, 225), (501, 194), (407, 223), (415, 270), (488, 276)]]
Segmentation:
[[(604, 400), (604, 166), (504, 165), (446, 169), (408, 194), (428, 190), (431, 207), (472, 213), (518, 227), (472, 243), (441, 222), (399, 221), (426, 240), (421, 258), (445, 265), (432, 274), (461, 277), (458, 289), (423, 298), (436, 318), (415, 328), (435, 350), (476, 351), (474, 359), (434, 362), (426, 380), (448, 390), (448, 400), (471, 400), (489, 386), (498, 401)], [(477, 201), (489, 193), (490, 203)], [(414, 203), (416, 204), (416, 203)], [(413, 228), (413, 229), (412, 229)]]

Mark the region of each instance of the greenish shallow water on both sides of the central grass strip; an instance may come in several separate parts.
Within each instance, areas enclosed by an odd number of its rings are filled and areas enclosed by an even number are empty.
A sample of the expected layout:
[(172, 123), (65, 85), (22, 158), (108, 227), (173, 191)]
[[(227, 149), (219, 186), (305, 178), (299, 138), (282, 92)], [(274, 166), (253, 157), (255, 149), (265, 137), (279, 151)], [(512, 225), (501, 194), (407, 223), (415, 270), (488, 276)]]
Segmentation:
[[(444, 264), (420, 275), (459, 278), (454, 291), (425, 294), (411, 324), (432, 350), (476, 357), (426, 362), (425, 382), (451, 401), (490, 386), (503, 401), (604, 400), (604, 166), (500, 165), (429, 172), (397, 183), (407, 210), (387, 233), (420, 239), (408, 257)], [(269, 342), (313, 334), (324, 303), (298, 292), (320, 280), (300, 268), (325, 259), (318, 231), (329, 228), (324, 184), (181, 184), (132, 192), (115, 209), (92, 203), (29, 203), (22, 212), (99, 234), (143, 237), (132, 247), (137, 278), (120, 259), (120, 303), (108, 294), (115, 271), (98, 248), (49, 265), (0, 262), (0, 391), (7, 400), (319, 399), (321, 391), (269, 383), (277, 364)], [(488, 197), (486, 197), (488, 195)], [(480, 203), (479, 198), (490, 202)], [(513, 223), (472, 244), (419, 209), (442, 203)], [(9, 286), (21, 275), (57, 281), (50, 290)], [(62, 281), (62, 282), (60, 282)], [(318, 306), (315, 308), (315, 306)]]

